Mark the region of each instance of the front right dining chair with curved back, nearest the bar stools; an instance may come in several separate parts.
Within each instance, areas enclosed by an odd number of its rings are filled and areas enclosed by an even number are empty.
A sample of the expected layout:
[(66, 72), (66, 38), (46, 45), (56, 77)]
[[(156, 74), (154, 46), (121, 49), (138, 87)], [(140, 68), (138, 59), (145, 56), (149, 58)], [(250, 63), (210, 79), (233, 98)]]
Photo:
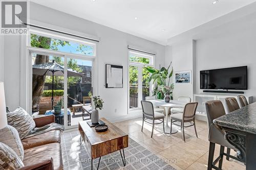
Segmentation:
[[(197, 136), (197, 129), (196, 129), (196, 111), (197, 111), (198, 102), (195, 103), (187, 103), (183, 109), (183, 113), (176, 113), (170, 115), (170, 134), (172, 134), (172, 126), (174, 122), (180, 122), (181, 125), (174, 124), (176, 126), (180, 126), (183, 133), (183, 140), (185, 140), (185, 132), (184, 128), (194, 126), (195, 133)], [(184, 123), (190, 123), (188, 126), (184, 126)], [(198, 137), (198, 136), (197, 136)]]

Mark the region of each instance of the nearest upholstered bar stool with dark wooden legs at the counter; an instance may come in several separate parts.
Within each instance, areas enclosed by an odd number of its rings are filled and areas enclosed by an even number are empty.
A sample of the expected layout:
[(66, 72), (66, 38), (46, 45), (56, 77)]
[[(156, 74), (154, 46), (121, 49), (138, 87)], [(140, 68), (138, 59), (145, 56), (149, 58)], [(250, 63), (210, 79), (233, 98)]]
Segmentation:
[[(208, 156), (208, 166), (207, 170), (221, 169), (223, 156), (226, 156), (226, 159), (229, 160), (229, 157), (232, 159), (238, 160), (236, 157), (230, 155), (230, 149), (236, 150), (226, 139), (225, 139), (225, 131), (218, 125), (213, 123), (213, 120), (225, 115), (225, 109), (221, 101), (208, 101), (205, 103), (207, 122), (208, 122), (208, 140), (210, 142), (209, 146), (209, 156)], [(220, 155), (214, 161), (214, 151), (215, 144), (220, 144)], [(227, 153), (224, 153), (225, 147), (227, 148)], [(216, 164), (219, 162), (219, 167)]]

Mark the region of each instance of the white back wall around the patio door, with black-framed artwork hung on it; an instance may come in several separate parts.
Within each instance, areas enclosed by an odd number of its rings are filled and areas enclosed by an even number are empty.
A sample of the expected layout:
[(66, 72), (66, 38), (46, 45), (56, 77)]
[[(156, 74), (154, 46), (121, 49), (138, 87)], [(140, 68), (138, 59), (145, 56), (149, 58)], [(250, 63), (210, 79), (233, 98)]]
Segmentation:
[[(53, 26), (58, 26), (81, 33), (90, 34), (100, 37), (98, 44), (98, 94), (104, 100), (103, 110), (100, 111), (101, 117), (113, 118), (127, 114), (127, 45), (143, 48), (151, 52), (155, 52), (156, 65), (164, 65), (165, 46), (148, 41), (130, 34), (126, 34), (97, 23), (84, 20), (66, 13), (62, 13), (44, 6), (34, 3), (30, 4), (30, 15), (32, 20), (45, 22)], [(114, 20), (113, 20), (114, 21)], [(6, 51), (5, 58), (8, 58), (5, 67), (5, 83), (7, 86), (6, 96), (7, 105), (11, 109), (15, 109), (20, 104), (19, 95), (19, 62), (18, 48), (15, 37), (8, 37), (5, 40)], [(12, 45), (12, 49), (11, 46)], [(8, 47), (10, 46), (10, 47)], [(16, 47), (16, 48), (15, 48)], [(11, 59), (12, 61), (9, 61)], [(13, 62), (14, 67), (9, 67), (10, 62)], [(123, 88), (121, 89), (106, 89), (105, 84), (105, 64), (118, 64), (123, 66)], [(10, 80), (8, 80), (10, 79)], [(9, 86), (9, 87), (8, 87)], [(20, 89), (23, 90), (23, 89)], [(15, 95), (15, 98), (14, 98)], [(115, 113), (117, 109), (117, 113)]]

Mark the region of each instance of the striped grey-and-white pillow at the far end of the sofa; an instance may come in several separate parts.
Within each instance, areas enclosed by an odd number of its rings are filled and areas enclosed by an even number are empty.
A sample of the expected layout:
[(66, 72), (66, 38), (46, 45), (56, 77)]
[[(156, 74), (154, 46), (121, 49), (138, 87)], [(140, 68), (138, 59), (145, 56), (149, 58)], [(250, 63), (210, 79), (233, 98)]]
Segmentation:
[(13, 112), (8, 112), (7, 121), (9, 125), (18, 131), (20, 139), (26, 137), (35, 128), (33, 118), (21, 107), (18, 107)]

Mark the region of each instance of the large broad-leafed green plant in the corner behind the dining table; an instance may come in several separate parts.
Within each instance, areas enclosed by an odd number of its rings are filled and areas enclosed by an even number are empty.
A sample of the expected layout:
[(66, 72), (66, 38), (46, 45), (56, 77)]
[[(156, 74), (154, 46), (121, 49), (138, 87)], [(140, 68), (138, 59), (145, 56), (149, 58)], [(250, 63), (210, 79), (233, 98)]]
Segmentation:
[(151, 73), (150, 78), (148, 78), (148, 82), (153, 82), (153, 84), (156, 84), (153, 89), (153, 95), (157, 95), (158, 99), (164, 98), (164, 86), (172, 87), (172, 89), (174, 87), (173, 83), (170, 84), (170, 79), (173, 76), (173, 67), (169, 72), (170, 65), (172, 65), (172, 62), (169, 64), (168, 68), (160, 67), (160, 70), (149, 65), (144, 66), (144, 68)]

